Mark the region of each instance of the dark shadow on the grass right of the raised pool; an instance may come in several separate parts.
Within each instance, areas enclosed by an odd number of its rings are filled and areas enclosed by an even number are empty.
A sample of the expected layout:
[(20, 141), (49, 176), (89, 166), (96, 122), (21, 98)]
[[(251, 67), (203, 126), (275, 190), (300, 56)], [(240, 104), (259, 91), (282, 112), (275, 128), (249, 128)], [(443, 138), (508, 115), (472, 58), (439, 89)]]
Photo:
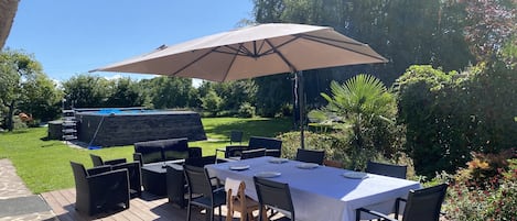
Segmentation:
[(259, 119), (250, 121), (236, 121), (215, 125), (212, 129), (205, 129), (206, 133), (217, 134), (220, 136), (229, 136), (230, 131), (237, 130), (244, 132), (244, 141), (249, 136), (268, 136), (273, 137), (280, 133), (292, 130), (292, 120), (290, 118), (281, 119)]

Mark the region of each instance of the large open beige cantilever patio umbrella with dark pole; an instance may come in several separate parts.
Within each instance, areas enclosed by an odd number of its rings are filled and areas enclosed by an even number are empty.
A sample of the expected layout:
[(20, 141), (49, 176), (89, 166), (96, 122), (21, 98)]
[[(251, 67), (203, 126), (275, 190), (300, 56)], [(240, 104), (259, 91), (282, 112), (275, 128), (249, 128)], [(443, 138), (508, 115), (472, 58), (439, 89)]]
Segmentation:
[[(324, 67), (386, 63), (368, 45), (332, 27), (269, 23), (200, 37), (90, 71), (155, 74), (228, 81)], [(303, 95), (298, 87), (298, 93)], [(298, 96), (300, 118), (303, 99)], [(303, 123), (300, 121), (301, 147)]]

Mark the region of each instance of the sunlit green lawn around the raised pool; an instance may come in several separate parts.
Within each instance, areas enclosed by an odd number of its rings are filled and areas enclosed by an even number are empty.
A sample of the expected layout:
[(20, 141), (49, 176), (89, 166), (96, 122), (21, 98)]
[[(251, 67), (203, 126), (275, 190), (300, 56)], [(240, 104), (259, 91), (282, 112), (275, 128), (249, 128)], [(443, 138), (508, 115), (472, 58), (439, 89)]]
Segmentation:
[[(276, 136), (291, 129), (290, 119), (202, 119), (209, 141), (191, 142), (190, 146), (201, 146), (203, 155), (213, 155), (215, 148), (228, 145), (231, 130), (245, 132), (244, 140), (250, 135)], [(0, 133), (0, 158), (9, 158), (17, 168), (18, 175), (28, 188), (34, 192), (46, 192), (74, 187), (74, 177), (69, 162), (83, 163), (91, 167), (89, 154), (103, 158), (127, 158), (132, 161), (132, 145), (101, 150), (73, 148), (61, 141), (46, 141), (46, 128), (28, 129), (10, 133)]]

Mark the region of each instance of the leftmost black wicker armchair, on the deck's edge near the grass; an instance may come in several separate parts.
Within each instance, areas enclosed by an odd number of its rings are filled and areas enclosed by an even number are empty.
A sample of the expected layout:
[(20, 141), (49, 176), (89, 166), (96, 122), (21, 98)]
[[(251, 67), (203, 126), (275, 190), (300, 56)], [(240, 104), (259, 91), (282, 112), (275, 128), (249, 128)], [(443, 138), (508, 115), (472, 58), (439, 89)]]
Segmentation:
[(111, 209), (129, 208), (129, 180), (127, 169), (111, 170), (110, 166), (88, 170), (71, 162), (75, 178), (75, 209), (94, 216)]

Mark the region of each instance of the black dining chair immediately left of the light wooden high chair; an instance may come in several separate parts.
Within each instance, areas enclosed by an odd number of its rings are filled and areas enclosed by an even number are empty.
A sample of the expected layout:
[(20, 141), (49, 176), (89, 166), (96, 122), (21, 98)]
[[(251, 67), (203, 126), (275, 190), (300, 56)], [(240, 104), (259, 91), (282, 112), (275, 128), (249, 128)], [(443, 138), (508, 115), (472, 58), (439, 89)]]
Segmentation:
[(209, 177), (206, 168), (191, 165), (183, 165), (183, 172), (185, 173), (189, 189), (186, 219), (191, 220), (192, 206), (196, 206), (206, 209), (211, 221), (214, 221), (214, 210), (218, 208), (219, 221), (222, 221), (220, 206), (226, 205), (226, 194), (224, 188), (212, 185), (218, 184), (218, 181), (212, 181), (217, 177)]

